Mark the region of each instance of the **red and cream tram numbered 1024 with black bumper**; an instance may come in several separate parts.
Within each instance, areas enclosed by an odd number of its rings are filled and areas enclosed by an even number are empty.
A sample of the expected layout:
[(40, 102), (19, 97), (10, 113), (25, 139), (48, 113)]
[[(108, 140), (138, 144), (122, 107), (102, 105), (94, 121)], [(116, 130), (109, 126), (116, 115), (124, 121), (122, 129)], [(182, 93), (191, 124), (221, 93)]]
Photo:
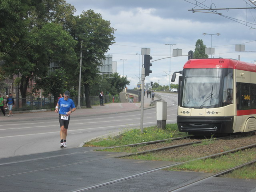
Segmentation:
[(177, 124), (194, 135), (256, 130), (256, 65), (226, 58), (188, 60), (179, 77)]

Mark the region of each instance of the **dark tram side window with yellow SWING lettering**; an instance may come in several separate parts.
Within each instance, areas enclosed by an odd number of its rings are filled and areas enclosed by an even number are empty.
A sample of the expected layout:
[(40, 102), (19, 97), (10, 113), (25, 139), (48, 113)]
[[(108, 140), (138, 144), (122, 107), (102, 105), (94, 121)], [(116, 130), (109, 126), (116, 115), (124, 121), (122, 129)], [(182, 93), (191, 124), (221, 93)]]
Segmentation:
[(236, 83), (238, 110), (256, 109), (256, 84)]

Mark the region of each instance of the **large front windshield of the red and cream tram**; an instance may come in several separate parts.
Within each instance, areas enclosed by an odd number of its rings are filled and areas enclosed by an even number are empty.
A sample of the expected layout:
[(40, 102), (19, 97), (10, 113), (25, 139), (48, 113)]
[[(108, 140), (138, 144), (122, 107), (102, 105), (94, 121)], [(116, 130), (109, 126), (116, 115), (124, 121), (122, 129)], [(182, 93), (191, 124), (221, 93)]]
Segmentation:
[(184, 69), (182, 107), (216, 108), (232, 104), (232, 96), (232, 69)]

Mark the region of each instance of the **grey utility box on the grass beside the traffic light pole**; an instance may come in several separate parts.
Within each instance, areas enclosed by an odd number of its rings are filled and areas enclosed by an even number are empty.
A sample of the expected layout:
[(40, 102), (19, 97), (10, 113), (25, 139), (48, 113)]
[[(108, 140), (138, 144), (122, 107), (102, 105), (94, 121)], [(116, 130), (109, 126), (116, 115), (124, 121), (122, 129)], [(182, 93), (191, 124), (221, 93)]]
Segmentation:
[(156, 123), (157, 128), (166, 128), (167, 102), (156, 102)]

